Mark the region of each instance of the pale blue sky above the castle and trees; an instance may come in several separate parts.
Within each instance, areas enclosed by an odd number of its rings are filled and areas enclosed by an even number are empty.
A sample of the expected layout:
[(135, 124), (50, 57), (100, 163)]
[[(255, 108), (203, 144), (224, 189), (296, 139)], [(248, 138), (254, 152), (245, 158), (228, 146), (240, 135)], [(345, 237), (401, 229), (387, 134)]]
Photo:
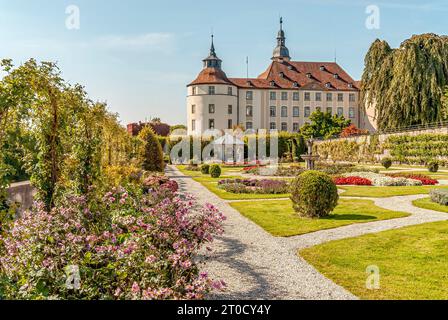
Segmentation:
[[(365, 27), (368, 5), (378, 30)], [(65, 26), (80, 9), (80, 29)], [(448, 34), (446, 0), (0, 0), (0, 57), (59, 63), (66, 80), (107, 101), (123, 124), (186, 121), (186, 85), (202, 68), (210, 33), (229, 77), (256, 77), (270, 62), (279, 16), (293, 60), (337, 61), (355, 79), (372, 41), (398, 46), (413, 34)]]

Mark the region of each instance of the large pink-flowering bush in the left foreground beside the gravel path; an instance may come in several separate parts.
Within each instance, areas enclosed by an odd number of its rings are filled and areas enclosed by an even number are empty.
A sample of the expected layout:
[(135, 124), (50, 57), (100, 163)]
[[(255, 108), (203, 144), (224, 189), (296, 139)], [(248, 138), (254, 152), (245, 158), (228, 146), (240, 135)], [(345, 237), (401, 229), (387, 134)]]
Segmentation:
[(222, 281), (200, 273), (198, 252), (221, 234), (212, 205), (179, 197), (177, 184), (148, 178), (101, 201), (67, 196), (40, 204), (0, 238), (6, 299), (202, 299)]

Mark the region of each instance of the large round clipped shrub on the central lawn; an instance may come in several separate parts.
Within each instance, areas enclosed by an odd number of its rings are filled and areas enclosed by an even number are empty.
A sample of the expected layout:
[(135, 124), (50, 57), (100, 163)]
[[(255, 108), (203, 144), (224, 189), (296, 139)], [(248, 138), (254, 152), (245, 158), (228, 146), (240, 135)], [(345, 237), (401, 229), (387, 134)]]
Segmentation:
[(306, 171), (291, 183), (294, 210), (302, 217), (328, 216), (338, 204), (338, 189), (331, 177), (319, 171)]

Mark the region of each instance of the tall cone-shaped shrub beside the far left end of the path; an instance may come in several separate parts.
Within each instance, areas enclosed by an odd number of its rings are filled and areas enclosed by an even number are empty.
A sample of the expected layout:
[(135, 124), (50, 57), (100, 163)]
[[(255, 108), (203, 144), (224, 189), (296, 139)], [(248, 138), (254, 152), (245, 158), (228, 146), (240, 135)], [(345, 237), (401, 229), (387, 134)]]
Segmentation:
[(144, 170), (153, 172), (163, 172), (165, 162), (163, 159), (163, 150), (159, 140), (151, 128), (145, 127), (138, 134), (143, 141), (144, 149), (142, 152), (142, 167)]

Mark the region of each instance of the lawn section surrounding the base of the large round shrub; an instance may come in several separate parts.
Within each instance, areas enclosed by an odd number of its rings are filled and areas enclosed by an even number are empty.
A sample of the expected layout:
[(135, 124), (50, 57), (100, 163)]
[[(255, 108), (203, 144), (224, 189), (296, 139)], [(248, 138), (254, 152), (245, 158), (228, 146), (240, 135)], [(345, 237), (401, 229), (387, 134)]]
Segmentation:
[(359, 199), (339, 200), (334, 213), (322, 219), (299, 217), (290, 200), (234, 202), (230, 205), (267, 232), (279, 237), (408, 216), (407, 213), (379, 208), (371, 200)]

